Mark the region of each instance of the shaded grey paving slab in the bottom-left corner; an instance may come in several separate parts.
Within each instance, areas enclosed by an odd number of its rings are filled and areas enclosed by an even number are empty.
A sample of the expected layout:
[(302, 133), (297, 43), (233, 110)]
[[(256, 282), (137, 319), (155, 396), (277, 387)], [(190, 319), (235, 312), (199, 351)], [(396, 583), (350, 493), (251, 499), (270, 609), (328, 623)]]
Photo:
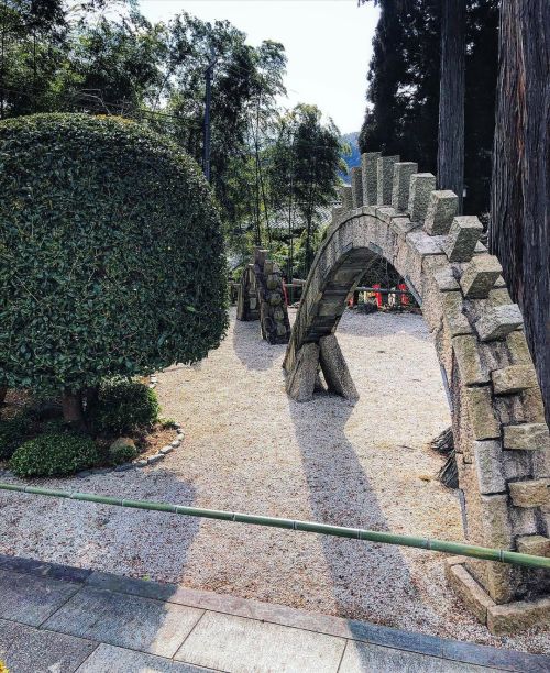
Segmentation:
[(10, 673), (74, 673), (97, 648), (97, 642), (90, 640), (14, 621), (8, 624), (12, 628), (6, 644), (0, 625), (0, 657)]

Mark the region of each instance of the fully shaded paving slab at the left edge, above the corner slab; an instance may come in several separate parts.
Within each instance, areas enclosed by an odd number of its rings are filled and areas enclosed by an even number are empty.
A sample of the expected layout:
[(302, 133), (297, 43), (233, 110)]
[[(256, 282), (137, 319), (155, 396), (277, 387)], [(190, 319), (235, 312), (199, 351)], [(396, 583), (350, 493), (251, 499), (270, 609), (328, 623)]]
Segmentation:
[(0, 617), (40, 626), (80, 588), (78, 584), (0, 570)]

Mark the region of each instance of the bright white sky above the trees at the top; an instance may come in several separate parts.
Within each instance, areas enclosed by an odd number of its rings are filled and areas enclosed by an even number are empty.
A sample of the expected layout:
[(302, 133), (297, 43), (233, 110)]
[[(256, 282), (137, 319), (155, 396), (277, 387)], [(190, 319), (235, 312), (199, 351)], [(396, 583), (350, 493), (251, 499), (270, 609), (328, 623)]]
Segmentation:
[(365, 112), (371, 42), (378, 20), (373, 3), (358, 0), (141, 0), (150, 21), (187, 11), (227, 19), (252, 45), (274, 40), (288, 57), (283, 104), (317, 104), (342, 133), (359, 131)]

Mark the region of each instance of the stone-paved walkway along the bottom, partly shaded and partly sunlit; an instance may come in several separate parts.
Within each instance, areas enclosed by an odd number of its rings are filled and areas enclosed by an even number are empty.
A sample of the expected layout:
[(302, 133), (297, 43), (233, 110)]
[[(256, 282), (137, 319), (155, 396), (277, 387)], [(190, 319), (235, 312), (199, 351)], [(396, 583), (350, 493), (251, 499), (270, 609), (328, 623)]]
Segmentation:
[(10, 673), (550, 671), (550, 657), (0, 555)]

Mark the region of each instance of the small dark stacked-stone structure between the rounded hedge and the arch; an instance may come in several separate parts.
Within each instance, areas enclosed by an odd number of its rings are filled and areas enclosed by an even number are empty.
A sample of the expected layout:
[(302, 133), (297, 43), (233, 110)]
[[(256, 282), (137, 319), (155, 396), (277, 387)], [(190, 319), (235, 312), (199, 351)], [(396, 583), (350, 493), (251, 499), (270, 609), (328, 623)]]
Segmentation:
[(290, 322), (283, 277), (268, 251), (256, 249), (254, 263), (244, 269), (237, 302), (238, 320), (260, 320), (262, 336), (271, 344), (288, 343)]

